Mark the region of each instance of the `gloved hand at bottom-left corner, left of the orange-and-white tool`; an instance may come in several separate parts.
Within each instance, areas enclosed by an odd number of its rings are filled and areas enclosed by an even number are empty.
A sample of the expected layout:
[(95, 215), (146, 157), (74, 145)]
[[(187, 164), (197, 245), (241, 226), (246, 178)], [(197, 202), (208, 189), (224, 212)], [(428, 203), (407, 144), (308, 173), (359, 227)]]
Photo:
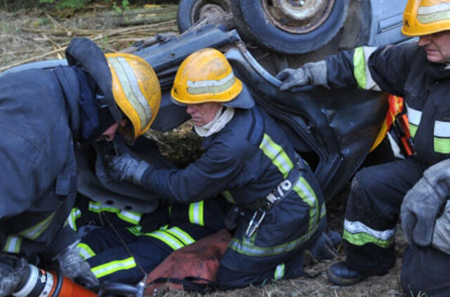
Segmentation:
[(30, 268), (27, 260), (11, 253), (0, 253), (0, 297), (10, 296), (25, 284)]

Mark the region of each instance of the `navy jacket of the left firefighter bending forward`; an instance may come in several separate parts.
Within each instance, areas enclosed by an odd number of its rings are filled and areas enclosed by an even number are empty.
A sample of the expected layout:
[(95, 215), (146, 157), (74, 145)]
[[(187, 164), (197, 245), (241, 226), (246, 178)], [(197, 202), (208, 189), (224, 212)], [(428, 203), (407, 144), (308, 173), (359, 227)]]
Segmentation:
[(77, 189), (78, 91), (68, 67), (0, 80), (1, 251), (53, 256), (75, 241), (62, 229)]

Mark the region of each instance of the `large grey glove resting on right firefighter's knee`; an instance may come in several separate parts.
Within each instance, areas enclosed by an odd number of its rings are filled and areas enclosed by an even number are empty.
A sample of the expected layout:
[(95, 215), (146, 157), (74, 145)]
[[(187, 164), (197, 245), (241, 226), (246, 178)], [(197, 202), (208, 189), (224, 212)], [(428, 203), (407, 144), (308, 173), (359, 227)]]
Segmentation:
[(409, 244), (430, 246), (437, 215), (450, 196), (450, 160), (423, 172), (401, 203), (401, 227)]

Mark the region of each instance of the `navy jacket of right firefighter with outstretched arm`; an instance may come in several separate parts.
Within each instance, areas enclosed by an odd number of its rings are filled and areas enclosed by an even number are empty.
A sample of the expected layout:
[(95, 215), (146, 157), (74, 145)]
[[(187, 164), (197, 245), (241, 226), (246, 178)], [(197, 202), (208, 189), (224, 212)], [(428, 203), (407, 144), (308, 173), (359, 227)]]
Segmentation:
[[(354, 51), (326, 59), (330, 87), (356, 86)], [(385, 46), (368, 58), (383, 91), (404, 97), (416, 153), (428, 166), (450, 158), (450, 67), (430, 63), (416, 42)]]

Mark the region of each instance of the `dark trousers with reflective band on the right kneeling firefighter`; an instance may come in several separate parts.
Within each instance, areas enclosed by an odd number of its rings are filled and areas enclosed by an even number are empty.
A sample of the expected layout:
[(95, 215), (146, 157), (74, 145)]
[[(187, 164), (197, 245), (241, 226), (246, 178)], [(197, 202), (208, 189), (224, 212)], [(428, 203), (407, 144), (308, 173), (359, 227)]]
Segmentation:
[[(385, 273), (395, 264), (394, 235), (401, 202), (423, 176), (426, 166), (409, 158), (363, 168), (352, 181), (344, 234), (346, 263), (360, 271)], [(401, 285), (406, 293), (449, 296), (450, 255), (434, 248), (409, 246), (404, 255)], [(442, 288), (444, 288), (442, 291)], [(446, 295), (435, 295), (446, 292)], [(431, 295), (430, 295), (431, 294)]]

